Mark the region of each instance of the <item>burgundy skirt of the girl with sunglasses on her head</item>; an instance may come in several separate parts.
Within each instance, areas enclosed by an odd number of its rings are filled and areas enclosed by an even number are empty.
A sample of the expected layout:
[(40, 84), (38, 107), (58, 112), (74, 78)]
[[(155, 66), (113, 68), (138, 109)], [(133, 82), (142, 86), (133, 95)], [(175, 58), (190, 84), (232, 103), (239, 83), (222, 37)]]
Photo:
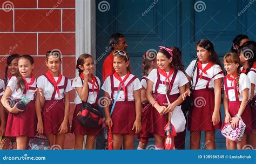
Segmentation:
[(132, 130), (136, 120), (134, 101), (117, 101), (111, 119), (113, 134), (135, 134), (135, 128)]

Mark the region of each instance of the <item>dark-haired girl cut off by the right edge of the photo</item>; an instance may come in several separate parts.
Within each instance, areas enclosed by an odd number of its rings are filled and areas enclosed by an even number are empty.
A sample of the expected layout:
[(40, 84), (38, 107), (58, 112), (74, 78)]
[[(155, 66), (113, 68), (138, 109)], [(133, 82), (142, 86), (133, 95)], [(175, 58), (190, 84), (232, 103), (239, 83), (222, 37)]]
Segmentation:
[(248, 144), (256, 148), (256, 106), (255, 106), (255, 95), (256, 95), (256, 44), (253, 41), (246, 42), (238, 49), (240, 58), (241, 72), (247, 74), (251, 81), (251, 95), (250, 95), (250, 107), (252, 112), (252, 133), (248, 134)]

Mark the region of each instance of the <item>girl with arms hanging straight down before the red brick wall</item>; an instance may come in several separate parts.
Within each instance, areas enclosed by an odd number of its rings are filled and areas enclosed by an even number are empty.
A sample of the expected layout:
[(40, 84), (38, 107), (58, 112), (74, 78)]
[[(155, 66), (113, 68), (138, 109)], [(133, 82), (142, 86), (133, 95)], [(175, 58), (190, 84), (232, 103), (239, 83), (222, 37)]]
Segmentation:
[[(62, 64), (59, 51), (46, 52), (46, 66), (48, 72), (38, 77), (38, 90), (42, 119), (38, 120), (44, 127), (44, 134), (50, 146), (64, 146), (65, 134), (70, 133), (69, 125), (69, 91), (72, 90), (70, 80), (60, 74)], [(53, 143), (56, 136), (55, 144)]]

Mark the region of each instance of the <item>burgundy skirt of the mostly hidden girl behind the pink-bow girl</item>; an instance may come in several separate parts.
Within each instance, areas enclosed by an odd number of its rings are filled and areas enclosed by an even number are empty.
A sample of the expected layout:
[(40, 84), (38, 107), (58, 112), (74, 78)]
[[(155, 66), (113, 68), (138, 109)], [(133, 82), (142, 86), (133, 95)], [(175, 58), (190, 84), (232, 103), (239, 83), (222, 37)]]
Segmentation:
[(142, 104), (142, 133), (139, 134), (139, 138), (152, 138), (154, 135), (150, 133), (151, 127), (151, 112), (152, 105), (150, 103)]

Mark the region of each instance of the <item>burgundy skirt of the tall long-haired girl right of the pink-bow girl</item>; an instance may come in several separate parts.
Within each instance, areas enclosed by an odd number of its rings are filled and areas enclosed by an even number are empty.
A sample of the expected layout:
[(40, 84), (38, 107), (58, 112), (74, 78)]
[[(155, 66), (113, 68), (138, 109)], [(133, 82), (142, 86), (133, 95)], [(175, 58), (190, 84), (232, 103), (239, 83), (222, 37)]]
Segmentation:
[(213, 126), (214, 90), (193, 90), (193, 107), (188, 115), (188, 131), (212, 131), (221, 128), (220, 123)]

